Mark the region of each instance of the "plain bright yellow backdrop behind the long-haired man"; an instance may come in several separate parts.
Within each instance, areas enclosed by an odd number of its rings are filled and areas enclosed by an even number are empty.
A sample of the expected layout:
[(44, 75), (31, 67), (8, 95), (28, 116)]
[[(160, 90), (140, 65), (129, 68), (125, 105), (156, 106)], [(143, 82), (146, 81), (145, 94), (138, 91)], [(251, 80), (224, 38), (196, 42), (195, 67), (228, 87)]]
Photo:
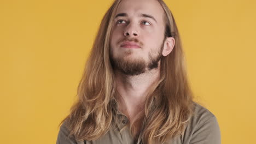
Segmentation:
[[(256, 134), (256, 1), (165, 0), (191, 87), (216, 115), (222, 143)], [(112, 1), (0, 1), (0, 143), (55, 143)]]

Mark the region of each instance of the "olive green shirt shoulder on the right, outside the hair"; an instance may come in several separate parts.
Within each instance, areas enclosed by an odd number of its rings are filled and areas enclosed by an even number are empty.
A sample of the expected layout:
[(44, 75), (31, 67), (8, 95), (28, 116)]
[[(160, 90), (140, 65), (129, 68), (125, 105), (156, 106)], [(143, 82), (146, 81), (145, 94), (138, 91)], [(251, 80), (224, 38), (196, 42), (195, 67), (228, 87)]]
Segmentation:
[(220, 144), (217, 117), (202, 105), (193, 103), (194, 115), (191, 116), (182, 136), (183, 143)]

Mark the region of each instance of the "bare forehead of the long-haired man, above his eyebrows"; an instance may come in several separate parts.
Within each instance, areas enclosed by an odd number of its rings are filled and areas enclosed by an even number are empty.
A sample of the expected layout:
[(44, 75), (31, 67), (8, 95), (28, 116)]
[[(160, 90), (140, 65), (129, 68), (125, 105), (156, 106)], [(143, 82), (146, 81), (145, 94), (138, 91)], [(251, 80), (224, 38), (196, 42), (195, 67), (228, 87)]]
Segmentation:
[(164, 10), (157, 0), (123, 0), (118, 5), (115, 15), (119, 13), (126, 13), (127, 16), (149, 14), (159, 19), (159, 16), (164, 14)]

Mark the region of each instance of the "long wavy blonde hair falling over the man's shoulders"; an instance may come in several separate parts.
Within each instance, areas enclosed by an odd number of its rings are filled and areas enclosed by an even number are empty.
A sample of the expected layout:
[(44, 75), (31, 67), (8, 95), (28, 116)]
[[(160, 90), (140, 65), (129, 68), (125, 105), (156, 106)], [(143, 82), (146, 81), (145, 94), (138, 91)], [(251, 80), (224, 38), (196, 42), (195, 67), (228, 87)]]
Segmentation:
[[(120, 2), (114, 1), (101, 21), (79, 82), (78, 100), (61, 122), (65, 122), (69, 135), (77, 140), (98, 139), (112, 127), (116, 116), (114, 97), (117, 90), (109, 60), (109, 41), (114, 14)], [(172, 52), (161, 58), (160, 81), (148, 94), (143, 114), (137, 117), (137, 121), (142, 119), (144, 123), (142, 142), (149, 144), (164, 143), (182, 135), (194, 109), (176, 22), (164, 1), (158, 2), (165, 11), (165, 36), (173, 37), (176, 43)], [(135, 123), (131, 124), (130, 131), (134, 137), (136, 130)]]

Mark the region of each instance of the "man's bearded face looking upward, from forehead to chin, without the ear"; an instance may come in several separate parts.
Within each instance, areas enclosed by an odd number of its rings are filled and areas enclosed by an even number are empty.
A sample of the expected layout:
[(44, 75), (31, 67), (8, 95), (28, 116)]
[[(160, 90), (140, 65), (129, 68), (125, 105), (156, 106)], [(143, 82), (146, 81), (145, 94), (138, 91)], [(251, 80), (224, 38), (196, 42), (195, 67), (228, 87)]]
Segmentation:
[(158, 1), (121, 1), (110, 36), (110, 61), (114, 69), (139, 75), (158, 68), (164, 30), (164, 10)]

